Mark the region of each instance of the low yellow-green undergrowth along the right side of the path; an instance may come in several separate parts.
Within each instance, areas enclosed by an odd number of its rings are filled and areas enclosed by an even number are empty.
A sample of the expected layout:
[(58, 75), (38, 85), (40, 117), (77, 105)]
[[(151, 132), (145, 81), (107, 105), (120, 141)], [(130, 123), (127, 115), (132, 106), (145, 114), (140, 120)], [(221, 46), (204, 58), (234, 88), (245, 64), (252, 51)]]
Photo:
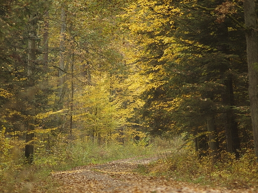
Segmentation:
[(190, 182), (209, 187), (258, 190), (258, 163), (255, 152), (246, 149), (239, 159), (221, 152), (216, 162), (210, 156), (199, 157), (194, 150), (180, 149), (163, 156), (138, 172), (151, 176)]

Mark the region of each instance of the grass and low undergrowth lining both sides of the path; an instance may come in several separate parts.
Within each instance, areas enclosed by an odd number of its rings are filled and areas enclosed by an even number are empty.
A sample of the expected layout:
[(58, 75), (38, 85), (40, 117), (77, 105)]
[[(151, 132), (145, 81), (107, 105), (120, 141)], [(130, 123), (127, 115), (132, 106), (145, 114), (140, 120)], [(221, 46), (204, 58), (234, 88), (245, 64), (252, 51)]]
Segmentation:
[(153, 154), (159, 160), (148, 165), (138, 165), (137, 172), (209, 187), (258, 190), (258, 163), (253, 150), (246, 149), (239, 159), (230, 153), (221, 152), (220, 159), (214, 163), (209, 156), (199, 158), (191, 145), (177, 150), (182, 143), (180, 138), (176, 138), (173, 143), (156, 138), (149, 146), (133, 142), (125, 145), (98, 145), (78, 141), (59, 143), (52, 154), (37, 150), (32, 166), (22, 164), (23, 160), (19, 156), (10, 154), (9, 162), (4, 163), (5, 167), (0, 165), (0, 192), (29, 193), (34, 190), (53, 193), (60, 186), (51, 177), (53, 171), (129, 157), (142, 159)]

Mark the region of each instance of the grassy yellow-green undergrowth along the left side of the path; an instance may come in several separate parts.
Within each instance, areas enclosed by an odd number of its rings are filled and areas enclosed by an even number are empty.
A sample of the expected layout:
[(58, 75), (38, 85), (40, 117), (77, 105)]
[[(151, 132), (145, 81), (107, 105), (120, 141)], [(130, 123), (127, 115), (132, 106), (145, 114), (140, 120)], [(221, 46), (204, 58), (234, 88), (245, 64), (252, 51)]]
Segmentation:
[[(51, 178), (51, 173), (68, 170), (76, 166), (90, 163), (105, 163), (112, 160), (134, 156), (146, 156), (169, 148), (169, 144), (161, 139), (152, 139), (147, 144), (129, 141), (126, 144), (109, 143), (99, 145), (91, 141), (57, 140), (51, 152), (46, 151), (40, 142), (35, 145), (34, 164), (26, 165), (22, 149), (15, 144), (5, 142), (5, 151), (1, 153), (0, 193), (53, 193), (59, 186)], [(8, 148), (7, 148), (8, 147)]]

